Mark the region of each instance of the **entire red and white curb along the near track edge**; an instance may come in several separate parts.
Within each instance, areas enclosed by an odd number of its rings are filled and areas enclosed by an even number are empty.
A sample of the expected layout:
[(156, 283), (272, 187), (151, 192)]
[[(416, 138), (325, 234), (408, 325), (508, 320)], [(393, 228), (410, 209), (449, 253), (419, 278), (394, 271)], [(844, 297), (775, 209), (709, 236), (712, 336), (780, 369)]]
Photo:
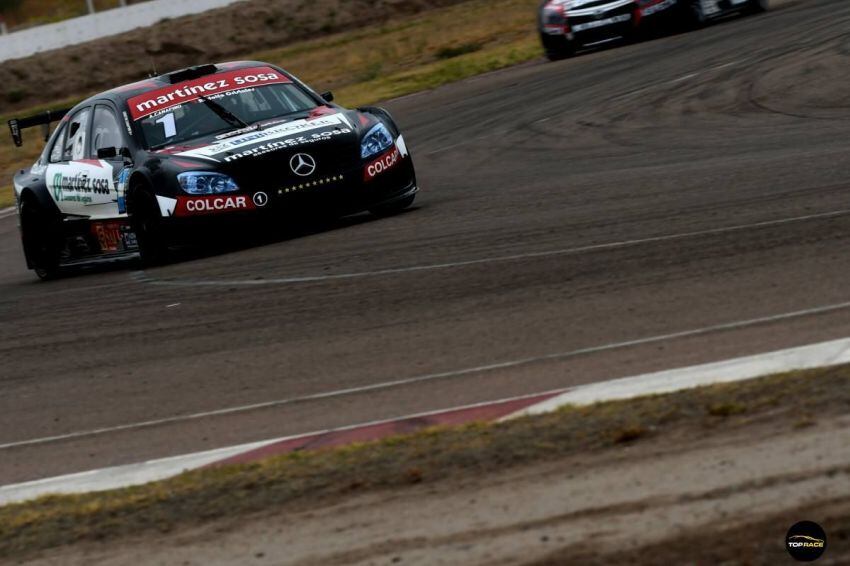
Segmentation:
[(850, 339), (7, 485), (0, 487), (0, 505), (26, 501), (47, 494), (84, 493), (141, 485), (208, 466), (250, 462), (295, 450), (328, 448), (353, 442), (378, 440), (434, 426), (499, 421), (546, 413), (566, 405), (590, 405), (604, 401), (671, 393), (705, 385), (743, 381), (774, 373), (845, 363), (850, 363)]

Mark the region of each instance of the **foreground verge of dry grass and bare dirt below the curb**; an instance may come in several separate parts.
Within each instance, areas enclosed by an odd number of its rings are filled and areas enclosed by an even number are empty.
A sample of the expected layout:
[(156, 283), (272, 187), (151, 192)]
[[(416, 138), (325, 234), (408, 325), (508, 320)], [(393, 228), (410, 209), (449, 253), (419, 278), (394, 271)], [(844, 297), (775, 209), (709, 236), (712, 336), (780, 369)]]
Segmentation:
[(41, 564), (850, 560), (850, 366), (200, 470), (0, 508)]

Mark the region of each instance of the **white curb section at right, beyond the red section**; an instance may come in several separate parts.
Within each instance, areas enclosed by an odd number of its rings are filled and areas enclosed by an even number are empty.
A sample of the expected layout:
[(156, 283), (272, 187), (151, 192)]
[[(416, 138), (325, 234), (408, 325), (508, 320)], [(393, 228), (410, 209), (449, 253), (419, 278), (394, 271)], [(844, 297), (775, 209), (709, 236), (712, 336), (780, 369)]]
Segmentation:
[(850, 363), (850, 338), (582, 385), (507, 418), (549, 413), (567, 405), (592, 405), (604, 401), (633, 399), (704, 385), (730, 383), (776, 373), (846, 363)]

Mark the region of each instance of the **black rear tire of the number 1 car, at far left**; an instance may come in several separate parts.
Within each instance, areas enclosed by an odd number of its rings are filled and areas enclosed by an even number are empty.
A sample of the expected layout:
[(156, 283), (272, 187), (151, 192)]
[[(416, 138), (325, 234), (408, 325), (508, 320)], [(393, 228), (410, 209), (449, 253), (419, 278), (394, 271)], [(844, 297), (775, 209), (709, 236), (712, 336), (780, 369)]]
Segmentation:
[(59, 276), (62, 227), (55, 214), (44, 210), (35, 199), (21, 201), (21, 239), (27, 261), (42, 281)]

